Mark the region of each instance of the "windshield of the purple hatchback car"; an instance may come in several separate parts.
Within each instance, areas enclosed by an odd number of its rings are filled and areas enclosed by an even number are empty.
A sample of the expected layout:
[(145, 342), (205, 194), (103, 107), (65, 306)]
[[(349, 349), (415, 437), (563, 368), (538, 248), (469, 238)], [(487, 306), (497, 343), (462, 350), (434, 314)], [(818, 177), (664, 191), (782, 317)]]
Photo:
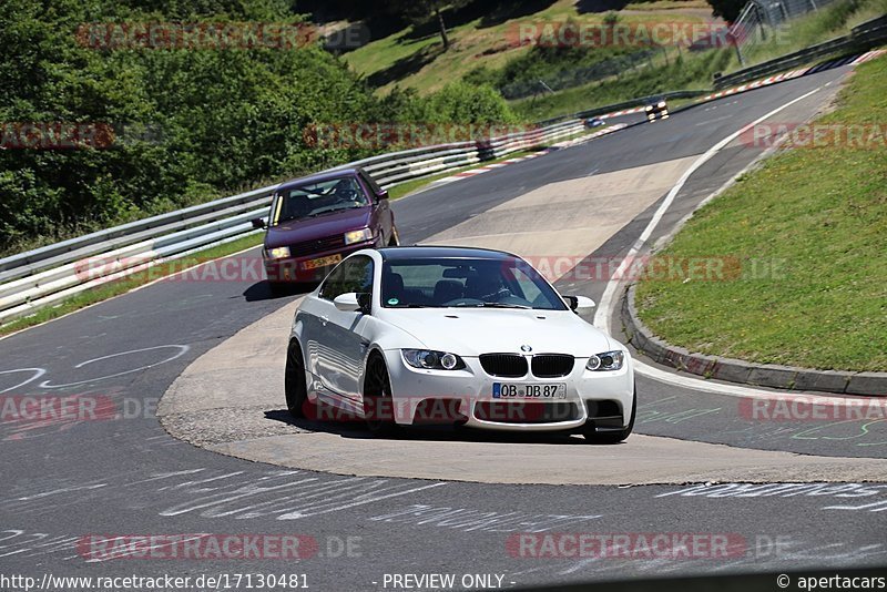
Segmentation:
[(274, 224), (367, 205), (369, 198), (354, 176), (287, 187), (277, 194)]

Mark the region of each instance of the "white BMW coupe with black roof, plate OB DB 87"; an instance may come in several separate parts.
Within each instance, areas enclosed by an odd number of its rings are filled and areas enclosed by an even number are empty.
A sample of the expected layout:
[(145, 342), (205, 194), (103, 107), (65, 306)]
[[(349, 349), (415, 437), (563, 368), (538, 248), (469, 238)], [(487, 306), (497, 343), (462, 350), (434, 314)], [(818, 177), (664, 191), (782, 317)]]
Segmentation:
[(593, 307), (508, 253), (359, 251), (296, 312), (287, 408), (339, 410), (377, 435), (450, 423), (619, 442), (634, 425), (632, 359), (579, 317)]

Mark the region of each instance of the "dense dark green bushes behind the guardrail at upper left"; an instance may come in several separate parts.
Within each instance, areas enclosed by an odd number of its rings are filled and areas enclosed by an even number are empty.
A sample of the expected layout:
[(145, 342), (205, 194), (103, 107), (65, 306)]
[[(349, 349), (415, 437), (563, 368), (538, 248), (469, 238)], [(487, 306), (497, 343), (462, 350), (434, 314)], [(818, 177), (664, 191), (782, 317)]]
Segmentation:
[(366, 84), (319, 48), (108, 50), (77, 37), (93, 22), (298, 22), (282, 2), (52, 6), (8, 0), (0, 13), (0, 122), (115, 134), (98, 149), (0, 150), (0, 253), (349, 160), (306, 145), (304, 130), (378, 112)]

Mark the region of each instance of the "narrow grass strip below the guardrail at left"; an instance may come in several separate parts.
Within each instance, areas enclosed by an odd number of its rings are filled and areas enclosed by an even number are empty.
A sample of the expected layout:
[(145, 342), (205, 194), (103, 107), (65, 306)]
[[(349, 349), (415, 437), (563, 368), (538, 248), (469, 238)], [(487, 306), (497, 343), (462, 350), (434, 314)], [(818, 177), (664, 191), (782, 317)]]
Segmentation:
[(197, 264), (226, 257), (228, 255), (233, 255), (234, 253), (239, 253), (241, 251), (258, 246), (262, 244), (263, 238), (264, 236), (261, 234), (245, 236), (224, 245), (218, 245), (210, 247), (205, 251), (193, 253), (181, 259), (161, 263), (149, 269), (134, 273), (133, 275), (123, 277), (121, 279), (109, 282), (106, 284), (100, 284), (95, 288), (77, 294), (70, 298), (65, 298), (54, 306), (41, 308), (31, 316), (18, 318), (0, 326), (0, 337), (27, 329), (29, 327), (42, 325), (43, 323), (52, 320), (53, 318), (59, 318), (61, 316), (80, 310), (81, 308), (85, 308), (86, 306), (113, 298), (114, 296), (120, 296), (121, 294), (125, 294), (160, 278), (180, 273), (183, 269), (187, 269), (188, 267), (193, 267)]

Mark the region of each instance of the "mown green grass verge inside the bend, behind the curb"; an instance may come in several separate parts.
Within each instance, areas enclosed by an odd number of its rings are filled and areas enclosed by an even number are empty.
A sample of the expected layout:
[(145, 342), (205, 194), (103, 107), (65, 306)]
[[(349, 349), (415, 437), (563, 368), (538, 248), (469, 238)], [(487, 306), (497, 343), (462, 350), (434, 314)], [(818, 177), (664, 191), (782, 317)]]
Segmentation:
[(656, 335), (755, 363), (887, 369), (884, 80), (887, 59), (858, 67), (837, 108), (816, 122), (879, 130), (864, 134), (867, 147), (835, 135), (823, 147), (778, 153), (696, 212), (657, 254), (731, 265), (723, 280), (640, 282), (639, 313)]

